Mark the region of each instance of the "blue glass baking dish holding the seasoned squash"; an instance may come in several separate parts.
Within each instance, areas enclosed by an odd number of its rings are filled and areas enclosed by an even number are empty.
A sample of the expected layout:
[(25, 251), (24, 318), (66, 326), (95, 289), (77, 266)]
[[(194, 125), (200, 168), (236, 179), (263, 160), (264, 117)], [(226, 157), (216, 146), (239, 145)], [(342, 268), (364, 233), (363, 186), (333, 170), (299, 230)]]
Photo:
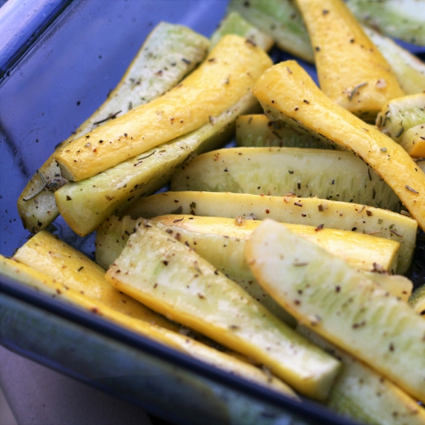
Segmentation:
[[(226, 0), (26, 3), (25, 25), (11, 4), (8, 16), (0, 9), (0, 254), (5, 256), (30, 237), (16, 210), (28, 179), (103, 102), (150, 30), (168, 21), (210, 36), (227, 5)], [(272, 56), (286, 57), (278, 50)], [(93, 258), (92, 235), (78, 237), (60, 217), (50, 230)], [(419, 284), (425, 265), (420, 244), (415, 263), (411, 277)], [(0, 281), (0, 343), (176, 424), (354, 424), (6, 278)]]

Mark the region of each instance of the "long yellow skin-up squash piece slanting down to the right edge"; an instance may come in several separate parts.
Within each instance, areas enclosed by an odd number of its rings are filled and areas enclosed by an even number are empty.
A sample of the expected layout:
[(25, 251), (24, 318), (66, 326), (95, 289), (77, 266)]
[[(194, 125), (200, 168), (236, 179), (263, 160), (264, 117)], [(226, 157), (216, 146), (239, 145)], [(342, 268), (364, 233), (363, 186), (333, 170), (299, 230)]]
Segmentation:
[(396, 142), (337, 105), (295, 61), (268, 69), (254, 87), (266, 115), (292, 121), (351, 149), (384, 179), (425, 229), (425, 174)]

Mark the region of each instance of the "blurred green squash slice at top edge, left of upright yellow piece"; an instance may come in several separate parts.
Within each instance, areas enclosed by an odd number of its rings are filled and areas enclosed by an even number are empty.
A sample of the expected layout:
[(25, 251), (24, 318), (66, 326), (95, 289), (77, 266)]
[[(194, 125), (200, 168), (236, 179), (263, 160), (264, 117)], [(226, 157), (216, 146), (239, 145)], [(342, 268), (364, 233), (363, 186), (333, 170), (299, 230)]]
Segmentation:
[(314, 62), (314, 54), (300, 12), (289, 0), (231, 0), (227, 11), (239, 13), (246, 21), (276, 40), (280, 49)]

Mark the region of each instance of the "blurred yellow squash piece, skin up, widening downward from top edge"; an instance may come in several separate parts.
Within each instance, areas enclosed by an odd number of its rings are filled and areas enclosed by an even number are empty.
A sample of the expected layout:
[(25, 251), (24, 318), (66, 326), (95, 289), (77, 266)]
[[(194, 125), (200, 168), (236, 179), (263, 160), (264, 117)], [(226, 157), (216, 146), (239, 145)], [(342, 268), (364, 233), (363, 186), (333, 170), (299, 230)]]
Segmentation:
[(342, 0), (297, 0), (314, 50), (320, 88), (363, 120), (404, 96), (397, 77)]

